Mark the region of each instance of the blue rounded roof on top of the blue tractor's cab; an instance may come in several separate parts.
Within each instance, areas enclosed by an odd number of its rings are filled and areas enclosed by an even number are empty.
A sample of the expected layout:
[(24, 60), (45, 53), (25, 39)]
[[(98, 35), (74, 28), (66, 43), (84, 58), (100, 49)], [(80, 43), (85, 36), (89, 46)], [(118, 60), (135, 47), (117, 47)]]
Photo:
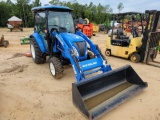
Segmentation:
[(57, 6), (57, 5), (45, 5), (45, 6), (38, 6), (34, 7), (31, 10), (32, 11), (44, 11), (44, 10), (63, 10), (63, 11), (72, 11), (69, 7), (66, 6)]

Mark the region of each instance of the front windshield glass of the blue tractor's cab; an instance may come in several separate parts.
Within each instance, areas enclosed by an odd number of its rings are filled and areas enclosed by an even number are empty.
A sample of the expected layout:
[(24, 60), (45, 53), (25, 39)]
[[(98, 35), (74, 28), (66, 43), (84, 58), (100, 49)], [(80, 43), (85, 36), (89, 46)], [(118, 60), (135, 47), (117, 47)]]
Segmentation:
[(63, 27), (69, 33), (75, 33), (74, 23), (71, 12), (49, 11), (48, 28), (59, 29)]

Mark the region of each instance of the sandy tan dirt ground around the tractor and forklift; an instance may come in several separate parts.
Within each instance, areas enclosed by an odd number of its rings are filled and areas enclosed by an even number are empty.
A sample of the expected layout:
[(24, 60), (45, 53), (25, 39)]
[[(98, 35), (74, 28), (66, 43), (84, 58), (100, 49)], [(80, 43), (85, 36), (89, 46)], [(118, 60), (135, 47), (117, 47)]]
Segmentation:
[[(7, 48), (0, 47), (0, 120), (86, 120), (72, 103), (71, 84), (76, 82), (72, 67), (65, 67), (64, 77), (55, 80), (47, 62), (37, 65), (24, 56), (30, 49), (28, 44), (20, 44), (20, 38), (32, 32), (33, 28), (23, 32), (0, 29), (0, 36), (10, 43)], [(92, 37), (103, 54), (106, 38), (102, 33)], [(148, 88), (100, 120), (160, 120), (160, 68), (113, 56), (107, 60), (112, 69), (130, 64), (148, 82)]]

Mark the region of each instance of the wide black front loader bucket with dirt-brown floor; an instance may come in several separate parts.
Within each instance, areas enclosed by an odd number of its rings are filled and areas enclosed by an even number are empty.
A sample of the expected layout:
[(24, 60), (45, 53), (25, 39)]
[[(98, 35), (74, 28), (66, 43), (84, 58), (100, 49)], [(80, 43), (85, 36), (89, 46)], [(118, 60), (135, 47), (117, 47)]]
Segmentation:
[(148, 85), (129, 65), (72, 84), (75, 106), (88, 118), (96, 119)]

